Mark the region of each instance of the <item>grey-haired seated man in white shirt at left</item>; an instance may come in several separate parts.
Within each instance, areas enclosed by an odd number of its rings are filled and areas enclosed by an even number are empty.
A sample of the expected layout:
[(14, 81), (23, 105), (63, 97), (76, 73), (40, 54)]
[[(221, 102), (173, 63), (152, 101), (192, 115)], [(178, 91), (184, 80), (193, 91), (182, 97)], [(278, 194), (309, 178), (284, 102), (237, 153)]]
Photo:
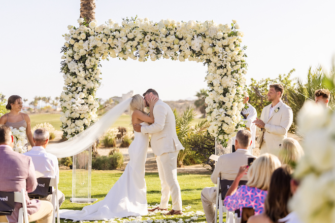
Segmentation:
[[(59, 182), (59, 167), (58, 159), (55, 155), (47, 153), (45, 148), (49, 143), (50, 134), (45, 128), (38, 128), (33, 133), (33, 141), (35, 146), (31, 148), (30, 151), (24, 153), (24, 155), (31, 157), (32, 163), (35, 169), (43, 174), (42, 177), (53, 178), (57, 176), (57, 183)], [(40, 198), (40, 200), (45, 200), (51, 202), (52, 195)], [(58, 190), (58, 202), (59, 207), (64, 202), (64, 194)]]

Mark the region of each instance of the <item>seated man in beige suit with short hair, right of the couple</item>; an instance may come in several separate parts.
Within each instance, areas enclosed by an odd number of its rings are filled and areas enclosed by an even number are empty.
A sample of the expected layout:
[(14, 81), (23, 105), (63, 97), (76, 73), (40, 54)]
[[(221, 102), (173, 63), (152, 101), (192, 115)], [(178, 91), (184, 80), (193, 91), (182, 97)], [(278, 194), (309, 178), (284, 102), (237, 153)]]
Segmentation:
[[(256, 158), (249, 152), (251, 145), (251, 133), (248, 130), (240, 130), (236, 135), (235, 153), (225, 154), (219, 157), (215, 165), (215, 169), (211, 175), (213, 183), (217, 182), (217, 178), (234, 180), (239, 172), (240, 166), (248, 163), (248, 158)], [(247, 180), (247, 176), (242, 176), (242, 180)], [(216, 203), (216, 187), (204, 188), (201, 193), (201, 200), (206, 215), (207, 222), (216, 222), (214, 204)]]

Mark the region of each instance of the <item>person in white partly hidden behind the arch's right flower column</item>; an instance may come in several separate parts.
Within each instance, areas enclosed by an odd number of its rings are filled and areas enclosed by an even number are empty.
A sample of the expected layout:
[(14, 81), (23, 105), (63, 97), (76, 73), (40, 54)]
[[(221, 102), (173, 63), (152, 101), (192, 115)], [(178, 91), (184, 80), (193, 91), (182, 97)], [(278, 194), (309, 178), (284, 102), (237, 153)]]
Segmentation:
[(243, 91), (244, 93), (244, 99), (243, 103), (248, 106), (248, 108), (244, 108), (242, 110), (242, 114), (245, 117), (243, 121), (247, 121), (245, 124), (247, 127), (247, 130), (251, 132), (251, 145), (249, 146), (249, 152), (252, 154), (252, 149), (256, 147), (256, 125), (253, 123), (253, 121), (257, 118), (257, 110), (249, 103), (249, 94), (247, 91)]

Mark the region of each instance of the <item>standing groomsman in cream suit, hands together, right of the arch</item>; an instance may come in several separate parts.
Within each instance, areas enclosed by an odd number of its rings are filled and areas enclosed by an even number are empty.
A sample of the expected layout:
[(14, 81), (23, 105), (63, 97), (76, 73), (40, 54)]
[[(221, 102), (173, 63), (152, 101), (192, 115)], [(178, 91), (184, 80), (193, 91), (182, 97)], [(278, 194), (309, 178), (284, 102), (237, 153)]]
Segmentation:
[(270, 85), (267, 100), (271, 104), (262, 109), (260, 119), (256, 118), (254, 123), (260, 128), (261, 133), (257, 138), (260, 154), (271, 153), (279, 155), (280, 146), (287, 131), (293, 122), (292, 109), (281, 101), (284, 87), (281, 84)]

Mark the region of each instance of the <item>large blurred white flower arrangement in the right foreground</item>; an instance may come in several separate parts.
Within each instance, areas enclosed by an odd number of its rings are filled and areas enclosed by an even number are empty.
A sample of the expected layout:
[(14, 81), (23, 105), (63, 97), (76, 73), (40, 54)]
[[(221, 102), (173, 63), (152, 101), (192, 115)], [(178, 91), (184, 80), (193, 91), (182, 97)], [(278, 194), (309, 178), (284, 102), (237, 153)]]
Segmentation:
[(290, 207), (302, 222), (335, 222), (335, 113), (308, 101), (298, 127), (305, 156), (294, 171), (301, 181)]

